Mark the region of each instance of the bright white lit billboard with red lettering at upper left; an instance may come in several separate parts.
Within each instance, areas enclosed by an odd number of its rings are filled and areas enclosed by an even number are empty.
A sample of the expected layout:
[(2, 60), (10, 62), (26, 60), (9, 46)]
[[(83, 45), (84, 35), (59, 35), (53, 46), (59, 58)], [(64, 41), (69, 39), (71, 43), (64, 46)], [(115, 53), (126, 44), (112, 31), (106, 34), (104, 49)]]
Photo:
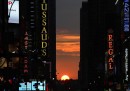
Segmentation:
[(19, 0), (8, 0), (8, 23), (19, 23)]

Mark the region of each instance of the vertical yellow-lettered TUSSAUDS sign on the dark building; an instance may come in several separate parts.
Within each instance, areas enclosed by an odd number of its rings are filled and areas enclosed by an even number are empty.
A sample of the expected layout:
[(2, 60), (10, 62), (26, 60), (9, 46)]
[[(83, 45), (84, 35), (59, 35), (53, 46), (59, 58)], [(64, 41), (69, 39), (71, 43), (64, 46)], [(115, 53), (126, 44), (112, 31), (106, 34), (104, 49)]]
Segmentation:
[(47, 56), (47, 3), (45, 0), (41, 3), (41, 10), (42, 10), (42, 30), (41, 30), (41, 52), (42, 56)]

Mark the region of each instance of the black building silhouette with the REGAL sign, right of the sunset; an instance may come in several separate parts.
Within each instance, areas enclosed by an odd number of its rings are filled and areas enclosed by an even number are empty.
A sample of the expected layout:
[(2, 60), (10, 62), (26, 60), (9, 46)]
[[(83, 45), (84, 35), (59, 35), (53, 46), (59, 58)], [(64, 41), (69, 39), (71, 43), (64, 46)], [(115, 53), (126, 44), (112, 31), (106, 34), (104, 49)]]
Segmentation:
[[(79, 65), (81, 91), (112, 89), (114, 83), (122, 83), (124, 79), (121, 5), (120, 0), (88, 0), (82, 3)], [(111, 43), (109, 33), (113, 38)]]

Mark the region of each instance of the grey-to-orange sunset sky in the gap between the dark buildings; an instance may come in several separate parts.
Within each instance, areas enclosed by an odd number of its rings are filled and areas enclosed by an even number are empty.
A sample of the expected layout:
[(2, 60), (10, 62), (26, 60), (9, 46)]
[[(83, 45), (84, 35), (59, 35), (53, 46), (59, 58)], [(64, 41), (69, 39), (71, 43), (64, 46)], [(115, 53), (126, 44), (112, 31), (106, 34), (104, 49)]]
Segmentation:
[(78, 78), (80, 61), (80, 8), (83, 0), (56, 0), (57, 78)]

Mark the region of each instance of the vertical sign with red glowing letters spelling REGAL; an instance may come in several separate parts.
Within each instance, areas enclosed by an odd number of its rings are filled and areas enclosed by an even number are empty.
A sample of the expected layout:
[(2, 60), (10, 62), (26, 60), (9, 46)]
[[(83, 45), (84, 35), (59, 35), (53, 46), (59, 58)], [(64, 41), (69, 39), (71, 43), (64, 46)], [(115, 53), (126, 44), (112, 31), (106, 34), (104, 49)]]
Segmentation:
[(113, 34), (108, 33), (108, 70), (114, 69), (114, 44), (113, 44)]

